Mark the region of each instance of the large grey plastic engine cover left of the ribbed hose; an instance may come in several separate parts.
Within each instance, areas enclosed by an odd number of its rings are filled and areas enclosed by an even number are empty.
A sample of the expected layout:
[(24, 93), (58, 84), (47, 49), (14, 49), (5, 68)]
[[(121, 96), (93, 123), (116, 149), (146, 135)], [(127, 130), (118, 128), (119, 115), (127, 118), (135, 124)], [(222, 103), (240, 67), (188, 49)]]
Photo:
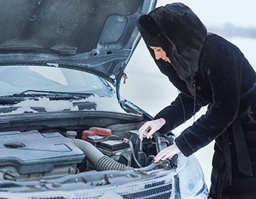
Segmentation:
[(59, 133), (38, 131), (0, 133), (0, 173), (2, 180), (33, 181), (77, 172), (85, 155)]

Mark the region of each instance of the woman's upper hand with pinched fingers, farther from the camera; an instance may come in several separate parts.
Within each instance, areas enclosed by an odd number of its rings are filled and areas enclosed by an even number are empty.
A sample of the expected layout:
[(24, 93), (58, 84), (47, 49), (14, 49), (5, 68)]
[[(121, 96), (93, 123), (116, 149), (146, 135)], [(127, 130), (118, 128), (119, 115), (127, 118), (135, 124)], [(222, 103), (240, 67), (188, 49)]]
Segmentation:
[(142, 136), (146, 136), (147, 139), (152, 138), (152, 135), (157, 130), (161, 129), (166, 123), (165, 119), (159, 118), (154, 119), (149, 122), (145, 122), (142, 127), (139, 128), (139, 139), (142, 141)]

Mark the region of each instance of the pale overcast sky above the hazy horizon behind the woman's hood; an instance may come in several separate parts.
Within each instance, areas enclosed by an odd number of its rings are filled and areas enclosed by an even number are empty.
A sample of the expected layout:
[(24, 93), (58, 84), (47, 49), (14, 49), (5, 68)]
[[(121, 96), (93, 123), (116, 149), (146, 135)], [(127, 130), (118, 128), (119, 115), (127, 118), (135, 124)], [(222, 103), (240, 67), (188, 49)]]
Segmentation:
[(182, 2), (208, 26), (232, 23), (234, 26), (256, 28), (255, 0), (159, 0), (157, 6)]

